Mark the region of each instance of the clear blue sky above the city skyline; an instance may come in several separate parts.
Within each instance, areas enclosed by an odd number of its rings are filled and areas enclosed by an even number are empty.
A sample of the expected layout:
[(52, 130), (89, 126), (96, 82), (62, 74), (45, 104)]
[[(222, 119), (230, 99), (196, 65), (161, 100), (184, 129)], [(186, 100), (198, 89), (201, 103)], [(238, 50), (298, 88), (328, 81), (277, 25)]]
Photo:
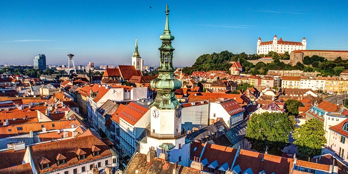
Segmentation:
[[(145, 65), (159, 65), (165, 4), (174, 65), (205, 53), (256, 53), (257, 38), (301, 41), (307, 49), (348, 50), (348, 3), (324, 0), (1, 0), (0, 64), (131, 63), (135, 38)], [(151, 6), (151, 8), (149, 7)]]

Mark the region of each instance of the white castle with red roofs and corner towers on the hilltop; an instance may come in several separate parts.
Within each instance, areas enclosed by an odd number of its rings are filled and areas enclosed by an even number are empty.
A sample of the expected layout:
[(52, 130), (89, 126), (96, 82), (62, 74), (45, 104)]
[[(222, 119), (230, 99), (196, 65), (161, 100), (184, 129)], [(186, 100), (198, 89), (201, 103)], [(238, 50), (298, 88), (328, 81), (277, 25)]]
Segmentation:
[(301, 42), (297, 41), (284, 41), (281, 37), (278, 40), (277, 35), (274, 35), (272, 41), (263, 41), (258, 37), (257, 40), (257, 54), (267, 54), (269, 51), (283, 54), (285, 51), (289, 53), (293, 50), (305, 50), (307, 46), (306, 38), (302, 38)]

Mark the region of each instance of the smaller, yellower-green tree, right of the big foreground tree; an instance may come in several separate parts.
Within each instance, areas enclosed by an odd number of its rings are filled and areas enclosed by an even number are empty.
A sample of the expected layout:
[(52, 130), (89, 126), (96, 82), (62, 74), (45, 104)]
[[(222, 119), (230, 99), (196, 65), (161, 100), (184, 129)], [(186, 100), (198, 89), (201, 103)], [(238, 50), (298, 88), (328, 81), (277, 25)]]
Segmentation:
[(295, 128), (292, 137), (297, 146), (298, 157), (307, 159), (321, 153), (321, 146), (326, 142), (323, 123), (316, 119), (309, 119), (301, 127)]

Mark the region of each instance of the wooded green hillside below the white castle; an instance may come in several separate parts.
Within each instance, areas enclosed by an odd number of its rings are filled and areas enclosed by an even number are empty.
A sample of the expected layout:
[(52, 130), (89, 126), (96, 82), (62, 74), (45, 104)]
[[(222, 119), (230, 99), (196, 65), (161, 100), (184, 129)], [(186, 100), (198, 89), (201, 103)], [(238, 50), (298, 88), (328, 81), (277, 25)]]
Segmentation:
[[(264, 63), (262, 61), (253, 65), (247, 60), (255, 60), (263, 56), (272, 57), (273, 62)], [(209, 70), (226, 70), (229, 73), (229, 67), (231, 63), (229, 61), (237, 61), (239, 58), (240, 64), (243, 66), (243, 73), (249, 74), (260, 74), (265, 75), (269, 69), (271, 70), (303, 70), (305, 72), (320, 72), (322, 76), (339, 75), (344, 69), (348, 69), (348, 60), (342, 60), (341, 57), (337, 57), (335, 60), (330, 61), (324, 57), (313, 55), (311, 57), (305, 56), (303, 63), (297, 62), (296, 65), (292, 66), (286, 64), (281, 59), (289, 59), (290, 55), (285, 52), (279, 55), (277, 52), (270, 51), (267, 54), (246, 54), (241, 52), (234, 54), (227, 50), (221, 51), (220, 53), (203, 54), (200, 55), (196, 62), (190, 67), (183, 67), (183, 72), (192, 74), (193, 71), (209, 71)]]

